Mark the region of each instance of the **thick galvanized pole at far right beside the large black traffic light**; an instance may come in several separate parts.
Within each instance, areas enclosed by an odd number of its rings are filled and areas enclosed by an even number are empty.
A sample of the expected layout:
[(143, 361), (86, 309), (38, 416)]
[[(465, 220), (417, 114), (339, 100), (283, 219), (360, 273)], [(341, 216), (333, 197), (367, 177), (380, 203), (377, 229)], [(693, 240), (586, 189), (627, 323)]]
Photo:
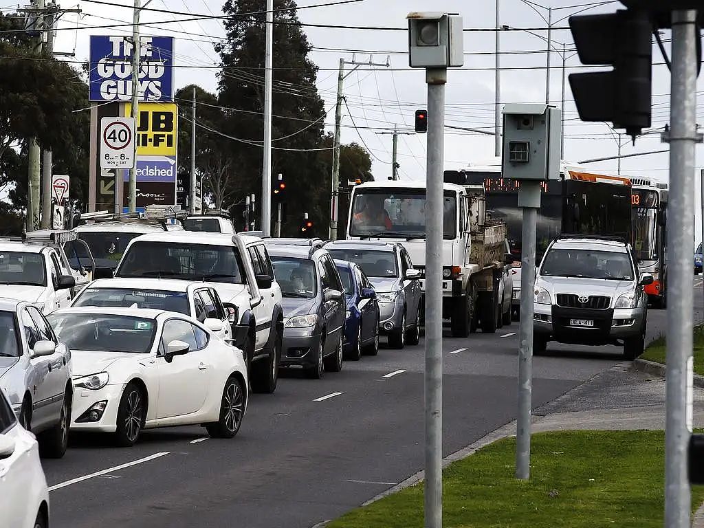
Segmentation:
[(689, 528), (691, 489), (687, 474), (687, 386), (692, 383), (694, 162), (696, 133), (697, 12), (672, 12), (670, 89), (670, 210), (667, 222), (668, 287), (677, 302), (667, 306), (665, 422), (665, 527)]

